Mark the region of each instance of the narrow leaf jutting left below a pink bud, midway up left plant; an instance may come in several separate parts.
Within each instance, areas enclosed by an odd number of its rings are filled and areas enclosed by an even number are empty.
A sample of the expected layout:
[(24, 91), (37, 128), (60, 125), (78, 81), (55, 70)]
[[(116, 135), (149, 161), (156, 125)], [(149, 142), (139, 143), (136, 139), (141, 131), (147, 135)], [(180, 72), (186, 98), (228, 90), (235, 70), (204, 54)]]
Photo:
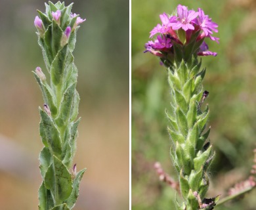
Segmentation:
[(37, 83), (39, 84), (39, 87), (43, 94), (43, 100), (45, 101), (45, 104), (47, 104), (51, 110), (52, 116), (56, 116), (57, 114), (57, 108), (56, 108), (56, 98), (53, 95), (53, 91), (51, 90), (51, 87), (49, 85), (43, 84), (41, 79), (38, 77), (38, 75), (33, 72), (35, 75), (35, 79), (37, 80)]

